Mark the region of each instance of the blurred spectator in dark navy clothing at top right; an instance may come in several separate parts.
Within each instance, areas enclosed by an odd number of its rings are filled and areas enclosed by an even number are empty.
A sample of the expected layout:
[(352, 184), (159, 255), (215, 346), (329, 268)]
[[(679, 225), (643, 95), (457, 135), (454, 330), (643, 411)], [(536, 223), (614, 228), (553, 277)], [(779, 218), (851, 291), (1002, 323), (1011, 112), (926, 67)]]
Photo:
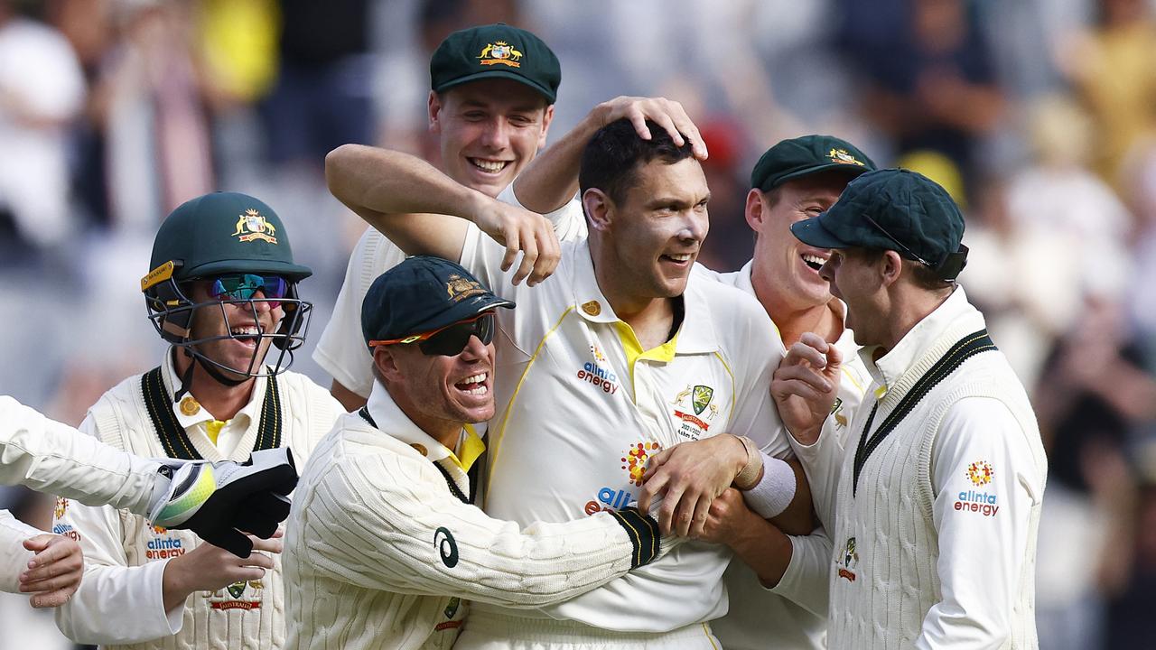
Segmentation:
[(852, 39), (865, 44), (849, 52), (866, 76), (864, 111), (897, 156), (938, 152), (970, 185), (979, 170), (977, 141), (1003, 106), (987, 39), (965, 0), (910, 0), (903, 9), (899, 20), (868, 22), (876, 31)]

